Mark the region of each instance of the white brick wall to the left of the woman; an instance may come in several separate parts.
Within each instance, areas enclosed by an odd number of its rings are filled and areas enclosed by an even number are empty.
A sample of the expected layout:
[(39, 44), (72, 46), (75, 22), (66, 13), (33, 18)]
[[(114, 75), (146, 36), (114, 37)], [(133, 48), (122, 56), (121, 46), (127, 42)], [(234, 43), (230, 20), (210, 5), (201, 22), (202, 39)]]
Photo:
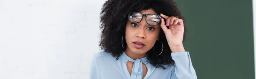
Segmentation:
[(88, 79), (105, 0), (0, 0), (0, 79)]

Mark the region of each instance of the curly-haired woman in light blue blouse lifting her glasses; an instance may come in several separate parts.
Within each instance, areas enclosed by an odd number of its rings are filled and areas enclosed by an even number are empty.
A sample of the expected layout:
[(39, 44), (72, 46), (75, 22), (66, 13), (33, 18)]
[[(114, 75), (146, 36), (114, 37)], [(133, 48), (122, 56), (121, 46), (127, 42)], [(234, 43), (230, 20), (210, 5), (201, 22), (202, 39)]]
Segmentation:
[(197, 79), (172, 0), (108, 0), (90, 79)]

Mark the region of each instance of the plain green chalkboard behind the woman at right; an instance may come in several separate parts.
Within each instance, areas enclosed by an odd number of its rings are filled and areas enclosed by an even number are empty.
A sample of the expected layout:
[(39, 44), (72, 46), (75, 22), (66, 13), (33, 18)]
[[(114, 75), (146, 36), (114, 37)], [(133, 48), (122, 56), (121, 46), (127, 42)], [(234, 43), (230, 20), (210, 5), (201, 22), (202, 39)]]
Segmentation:
[(254, 79), (252, 0), (175, 0), (198, 79)]

